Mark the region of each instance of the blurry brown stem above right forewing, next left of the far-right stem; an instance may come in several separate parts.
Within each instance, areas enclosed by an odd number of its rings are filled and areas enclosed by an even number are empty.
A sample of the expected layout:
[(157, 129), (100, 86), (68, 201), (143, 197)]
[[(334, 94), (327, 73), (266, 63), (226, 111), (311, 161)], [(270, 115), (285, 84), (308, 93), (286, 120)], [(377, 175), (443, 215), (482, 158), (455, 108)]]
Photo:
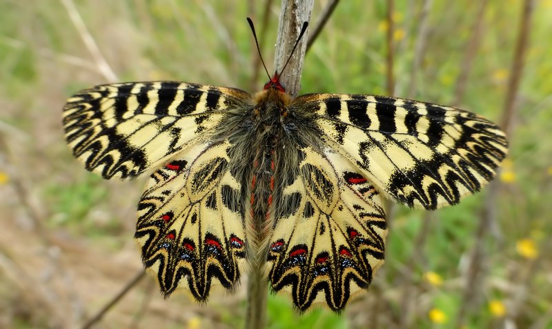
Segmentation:
[(453, 106), (460, 106), (462, 99), (464, 99), (464, 93), (466, 92), (466, 83), (468, 82), (468, 77), (471, 72), (471, 67), (473, 64), (473, 59), (475, 59), (475, 54), (477, 54), (477, 49), (482, 37), (483, 30), (483, 19), (485, 17), (485, 9), (489, 0), (480, 1), (479, 10), (477, 10), (477, 17), (473, 22), (473, 32), (471, 33), (471, 38), (466, 47), (466, 54), (464, 55), (464, 61), (460, 66), (460, 74), (456, 80), (456, 89), (454, 92), (454, 101)]

